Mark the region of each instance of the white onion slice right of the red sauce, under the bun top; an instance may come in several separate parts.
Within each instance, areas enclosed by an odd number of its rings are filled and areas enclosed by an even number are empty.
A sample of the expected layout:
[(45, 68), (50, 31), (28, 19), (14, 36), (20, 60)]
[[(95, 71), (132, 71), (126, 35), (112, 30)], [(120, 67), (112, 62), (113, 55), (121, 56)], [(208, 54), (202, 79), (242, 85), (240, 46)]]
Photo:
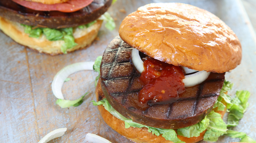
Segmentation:
[(194, 74), (185, 75), (183, 83), (185, 87), (193, 87), (195, 85), (202, 83), (209, 76), (209, 74), (210, 72), (198, 71)]

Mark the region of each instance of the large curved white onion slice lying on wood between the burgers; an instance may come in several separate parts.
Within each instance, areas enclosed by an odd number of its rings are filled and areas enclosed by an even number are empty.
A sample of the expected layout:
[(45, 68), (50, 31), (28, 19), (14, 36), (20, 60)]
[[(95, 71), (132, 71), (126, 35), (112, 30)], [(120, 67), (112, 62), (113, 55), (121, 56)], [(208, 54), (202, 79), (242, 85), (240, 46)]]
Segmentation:
[(94, 62), (78, 62), (71, 65), (68, 65), (61, 69), (53, 78), (52, 90), (53, 94), (58, 99), (64, 99), (61, 87), (65, 79), (72, 73), (83, 70), (93, 70)]

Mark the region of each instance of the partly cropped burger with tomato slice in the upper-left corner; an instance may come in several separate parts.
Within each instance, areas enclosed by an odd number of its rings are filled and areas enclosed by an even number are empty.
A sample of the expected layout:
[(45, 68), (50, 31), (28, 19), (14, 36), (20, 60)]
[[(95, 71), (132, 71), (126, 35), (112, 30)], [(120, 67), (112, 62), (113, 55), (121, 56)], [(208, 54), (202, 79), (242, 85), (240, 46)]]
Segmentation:
[(112, 19), (108, 13), (101, 16), (111, 3), (112, 0), (1, 0), (0, 29), (17, 43), (40, 53), (66, 54), (95, 40), (102, 20)]

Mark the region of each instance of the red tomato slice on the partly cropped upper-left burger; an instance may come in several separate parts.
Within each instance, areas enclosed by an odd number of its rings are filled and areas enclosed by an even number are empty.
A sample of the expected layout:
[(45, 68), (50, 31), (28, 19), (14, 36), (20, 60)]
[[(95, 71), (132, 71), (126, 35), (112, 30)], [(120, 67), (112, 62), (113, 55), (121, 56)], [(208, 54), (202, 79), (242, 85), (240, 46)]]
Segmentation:
[(12, 0), (23, 7), (38, 10), (38, 11), (61, 11), (61, 12), (74, 12), (90, 5), (93, 0), (69, 0), (66, 3), (59, 4), (42, 4), (26, 0)]

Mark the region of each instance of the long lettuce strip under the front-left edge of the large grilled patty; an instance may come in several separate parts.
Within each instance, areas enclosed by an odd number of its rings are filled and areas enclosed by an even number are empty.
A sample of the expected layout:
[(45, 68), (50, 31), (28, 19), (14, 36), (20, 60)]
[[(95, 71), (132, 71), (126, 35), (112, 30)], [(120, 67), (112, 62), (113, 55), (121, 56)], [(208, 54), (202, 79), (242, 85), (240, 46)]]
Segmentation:
[(129, 127), (136, 127), (136, 128), (142, 128), (142, 127), (146, 127), (148, 128), (148, 132), (154, 135), (162, 135), (166, 140), (170, 140), (174, 143), (185, 143), (183, 141), (181, 141), (176, 132), (172, 129), (160, 129), (160, 128), (153, 128), (153, 127), (149, 127), (149, 126), (145, 126), (136, 122), (133, 122), (132, 119), (126, 119), (124, 116), (122, 116), (120, 113), (118, 113), (111, 105), (110, 103), (107, 101), (107, 99), (103, 99), (99, 102), (95, 102), (95, 101), (91, 101), (93, 102), (93, 105), (103, 105), (104, 108), (109, 111), (113, 116), (117, 117), (120, 120), (124, 121), (125, 124), (125, 128), (129, 128)]

